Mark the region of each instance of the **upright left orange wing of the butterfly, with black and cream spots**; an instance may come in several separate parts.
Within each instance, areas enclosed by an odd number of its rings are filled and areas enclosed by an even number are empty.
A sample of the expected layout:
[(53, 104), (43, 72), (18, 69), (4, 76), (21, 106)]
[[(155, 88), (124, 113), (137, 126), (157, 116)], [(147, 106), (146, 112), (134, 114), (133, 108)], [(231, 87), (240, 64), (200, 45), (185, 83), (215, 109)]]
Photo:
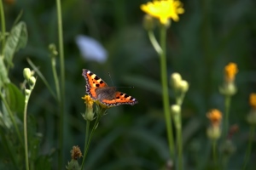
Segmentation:
[(97, 99), (96, 88), (108, 87), (108, 84), (104, 82), (102, 78), (87, 69), (83, 69), (82, 75), (86, 80), (86, 93), (89, 94), (92, 99)]

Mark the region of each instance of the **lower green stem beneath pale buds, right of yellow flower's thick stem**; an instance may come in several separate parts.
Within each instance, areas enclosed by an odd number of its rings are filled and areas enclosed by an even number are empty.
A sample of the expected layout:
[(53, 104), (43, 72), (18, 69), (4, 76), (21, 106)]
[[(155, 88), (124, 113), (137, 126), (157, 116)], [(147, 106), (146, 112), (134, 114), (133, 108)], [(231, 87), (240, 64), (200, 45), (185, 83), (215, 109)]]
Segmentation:
[[(181, 120), (181, 119), (180, 119)], [(181, 122), (180, 122), (181, 123)], [(183, 136), (182, 136), (182, 126), (177, 127), (177, 159), (179, 170), (183, 169)]]

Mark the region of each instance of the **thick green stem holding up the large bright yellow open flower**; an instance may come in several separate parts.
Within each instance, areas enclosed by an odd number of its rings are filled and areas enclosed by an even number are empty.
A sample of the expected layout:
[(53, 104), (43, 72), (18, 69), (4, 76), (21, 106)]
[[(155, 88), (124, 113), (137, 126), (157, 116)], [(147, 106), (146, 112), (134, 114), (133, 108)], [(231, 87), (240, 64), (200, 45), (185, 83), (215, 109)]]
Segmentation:
[(166, 26), (161, 26), (160, 28), (160, 47), (162, 52), (160, 53), (160, 69), (161, 69), (161, 83), (162, 83), (162, 96), (163, 96), (163, 106), (166, 117), (166, 128), (168, 144), (170, 149), (171, 158), (174, 159), (174, 141), (172, 134), (172, 116), (169, 105), (169, 93), (168, 93), (168, 82), (167, 82), (167, 72), (166, 72)]

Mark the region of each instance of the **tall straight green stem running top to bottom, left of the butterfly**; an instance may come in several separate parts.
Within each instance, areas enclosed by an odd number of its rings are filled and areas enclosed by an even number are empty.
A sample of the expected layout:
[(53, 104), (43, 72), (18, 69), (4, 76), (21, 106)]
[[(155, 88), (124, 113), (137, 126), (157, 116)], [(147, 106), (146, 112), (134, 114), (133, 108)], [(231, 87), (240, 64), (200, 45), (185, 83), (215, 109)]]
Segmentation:
[(65, 105), (65, 65), (63, 50), (62, 18), (61, 18), (61, 0), (56, 0), (57, 17), (58, 17), (58, 34), (59, 34), (59, 53), (61, 65), (61, 101), (60, 101), (60, 139), (59, 139), (59, 160), (58, 168), (62, 169), (63, 161), (63, 131), (64, 131), (64, 105)]

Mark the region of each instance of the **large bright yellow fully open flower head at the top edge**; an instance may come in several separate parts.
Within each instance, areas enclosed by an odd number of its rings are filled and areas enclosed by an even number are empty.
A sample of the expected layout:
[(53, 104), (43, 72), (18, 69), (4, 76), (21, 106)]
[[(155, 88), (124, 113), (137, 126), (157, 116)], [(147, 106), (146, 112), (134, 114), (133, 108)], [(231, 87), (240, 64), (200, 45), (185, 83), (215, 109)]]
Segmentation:
[(154, 0), (153, 2), (142, 4), (141, 9), (145, 13), (158, 18), (163, 25), (168, 23), (168, 19), (178, 21), (178, 14), (184, 13), (183, 3), (179, 0)]

